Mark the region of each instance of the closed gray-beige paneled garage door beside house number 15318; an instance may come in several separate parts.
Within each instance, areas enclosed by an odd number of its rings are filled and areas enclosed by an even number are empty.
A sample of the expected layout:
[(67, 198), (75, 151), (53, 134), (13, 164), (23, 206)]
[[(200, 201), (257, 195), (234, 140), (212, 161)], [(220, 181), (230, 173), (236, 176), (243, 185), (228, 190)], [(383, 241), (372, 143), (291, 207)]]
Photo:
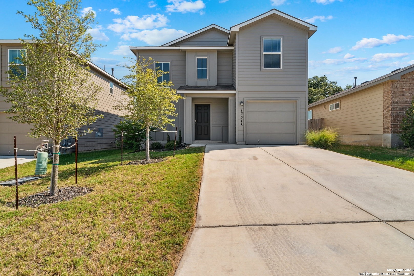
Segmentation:
[(247, 101), (246, 108), (248, 144), (296, 144), (296, 101)]

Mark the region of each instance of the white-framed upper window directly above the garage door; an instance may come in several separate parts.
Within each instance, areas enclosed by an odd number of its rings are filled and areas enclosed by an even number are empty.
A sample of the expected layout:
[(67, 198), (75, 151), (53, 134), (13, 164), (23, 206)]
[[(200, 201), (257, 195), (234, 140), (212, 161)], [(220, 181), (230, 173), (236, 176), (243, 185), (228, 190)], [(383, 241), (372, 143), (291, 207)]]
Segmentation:
[(282, 38), (263, 38), (263, 69), (281, 69)]

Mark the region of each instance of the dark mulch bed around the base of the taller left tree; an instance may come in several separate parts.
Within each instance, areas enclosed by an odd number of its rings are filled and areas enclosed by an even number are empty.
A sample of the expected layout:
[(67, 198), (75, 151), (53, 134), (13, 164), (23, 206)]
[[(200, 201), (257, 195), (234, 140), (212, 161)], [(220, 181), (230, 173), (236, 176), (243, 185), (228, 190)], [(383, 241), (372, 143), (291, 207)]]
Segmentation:
[[(69, 186), (58, 189), (58, 195), (56, 196), (50, 196), (49, 191), (46, 191), (36, 195), (29, 195), (28, 197), (20, 198), (19, 206), (39, 207), (43, 204), (52, 204), (65, 200), (71, 200), (75, 197), (86, 195), (91, 191), (93, 191), (93, 189), (87, 187)], [(7, 202), (6, 206), (16, 207), (16, 202)]]

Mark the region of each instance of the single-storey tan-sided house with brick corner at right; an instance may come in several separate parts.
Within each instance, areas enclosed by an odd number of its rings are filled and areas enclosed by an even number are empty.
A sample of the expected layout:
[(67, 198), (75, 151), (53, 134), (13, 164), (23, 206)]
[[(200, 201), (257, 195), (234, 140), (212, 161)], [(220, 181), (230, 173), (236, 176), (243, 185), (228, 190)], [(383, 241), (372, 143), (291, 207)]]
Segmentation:
[(403, 145), (398, 133), (414, 96), (414, 64), (308, 106), (308, 119), (324, 118), (351, 145)]

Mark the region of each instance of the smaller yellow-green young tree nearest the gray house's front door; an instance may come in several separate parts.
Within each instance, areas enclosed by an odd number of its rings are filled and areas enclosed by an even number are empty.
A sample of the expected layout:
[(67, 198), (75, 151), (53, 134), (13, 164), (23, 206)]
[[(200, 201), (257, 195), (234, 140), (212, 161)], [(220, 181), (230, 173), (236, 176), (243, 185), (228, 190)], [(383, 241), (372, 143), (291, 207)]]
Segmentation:
[(158, 69), (152, 58), (148, 60), (138, 57), (138, 60), (130, 59), (132, 64), (123, 65), (130, 74), (123, 77), (122, 81), (128, 89), (123, 92), (124, 100), (120, 100), (116, 109), (124, 111), (125, 119), (142, 121), (145, 126), (145, 158), (149, 160), (149, 128), (166, 129), (166, 125), (174, 126), (172, 117), (177, 116), (173, 102), (183, 99), (176, 90), (171, 88), (170, 81), (159, 82), (163, 74), (168, 73)]

